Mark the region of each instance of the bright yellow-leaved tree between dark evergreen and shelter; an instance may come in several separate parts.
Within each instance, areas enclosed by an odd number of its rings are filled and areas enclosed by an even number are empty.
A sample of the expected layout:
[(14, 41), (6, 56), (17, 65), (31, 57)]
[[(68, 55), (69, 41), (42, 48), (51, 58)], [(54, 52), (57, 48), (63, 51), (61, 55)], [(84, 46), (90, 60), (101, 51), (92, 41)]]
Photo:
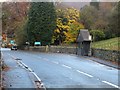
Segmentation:
[(79, 23), (79, 10), (75, 8), (57, 9), (57, 28), (54, 31), (53, 42), (57, 44), (74, 43), (78, 31), (84, 26)]

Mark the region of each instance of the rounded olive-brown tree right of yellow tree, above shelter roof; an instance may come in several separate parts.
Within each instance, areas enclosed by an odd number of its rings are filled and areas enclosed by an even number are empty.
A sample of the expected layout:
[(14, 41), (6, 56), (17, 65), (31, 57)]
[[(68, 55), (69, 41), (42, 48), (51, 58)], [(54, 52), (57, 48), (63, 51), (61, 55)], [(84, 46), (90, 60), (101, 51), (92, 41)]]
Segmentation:
[(84, 6), (80, 10), (80, 21), (86, 29), (91, 30), (98, 17), (98, 10), (93, 6)]

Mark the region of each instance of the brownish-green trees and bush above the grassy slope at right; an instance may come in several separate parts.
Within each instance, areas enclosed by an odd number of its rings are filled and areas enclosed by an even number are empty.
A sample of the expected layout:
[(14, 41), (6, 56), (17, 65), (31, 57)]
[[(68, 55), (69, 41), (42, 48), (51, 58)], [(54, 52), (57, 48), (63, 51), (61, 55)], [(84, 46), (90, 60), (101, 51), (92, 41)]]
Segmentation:
[(120, 2), (91, 2), (80, 13), (80, 20), (94, 41), (120, 36)]

